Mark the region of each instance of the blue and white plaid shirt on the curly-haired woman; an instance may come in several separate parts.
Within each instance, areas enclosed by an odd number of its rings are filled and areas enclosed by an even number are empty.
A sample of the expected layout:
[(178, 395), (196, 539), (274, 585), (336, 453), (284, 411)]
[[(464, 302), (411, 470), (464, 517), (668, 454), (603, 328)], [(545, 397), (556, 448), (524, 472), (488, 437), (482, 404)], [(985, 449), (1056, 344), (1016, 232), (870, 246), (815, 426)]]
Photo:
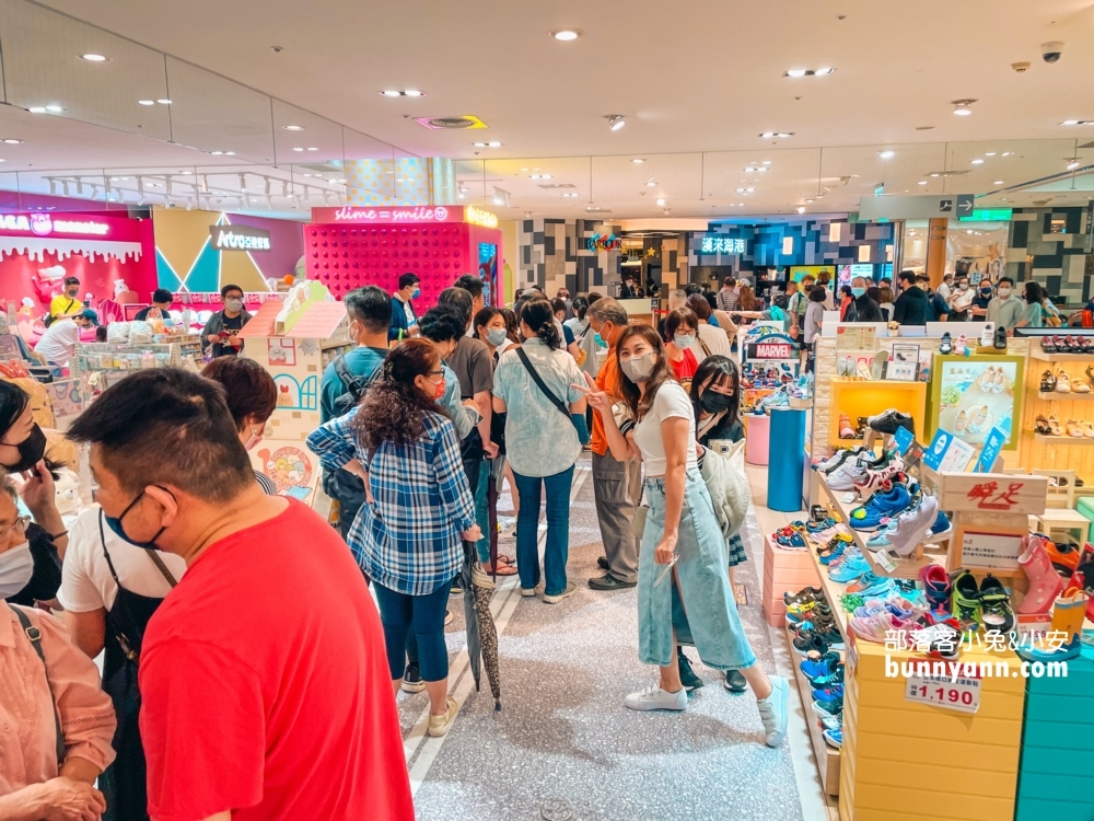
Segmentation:
[(347, 540), (361, 569), (388, 590), (427, 595), (455, 578), (464, 560), (461, 534), (475, 524), (455, 428), (427, 413), (417, 441), (383, 442), (370, 463), (352, 429), (357, 413), (314, 430), (307, 447), (328, 470), (357, 459), (369, 472), (375, 501), (361, 506)]

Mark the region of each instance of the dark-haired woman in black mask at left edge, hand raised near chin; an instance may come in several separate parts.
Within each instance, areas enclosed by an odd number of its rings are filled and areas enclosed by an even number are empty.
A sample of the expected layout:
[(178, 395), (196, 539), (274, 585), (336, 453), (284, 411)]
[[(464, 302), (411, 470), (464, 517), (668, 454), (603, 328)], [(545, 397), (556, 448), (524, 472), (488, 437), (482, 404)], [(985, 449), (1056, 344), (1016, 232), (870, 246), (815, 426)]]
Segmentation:
[(14, 591), (5, 590), (4, 598), (26, 606), (39, 601), (53, 603), (61, 583), (68, 532), (57, 510), (54, 477), (43, 459), (46, 435), (32, 417), (31, 397), (11, 382), (0, 381), (0, 467), (8, 474), (22, 474), (19, 494), (33, 519), (21, 519), (13, 525), (23, 529), (32, 563), (24, 568), (25, 583)]

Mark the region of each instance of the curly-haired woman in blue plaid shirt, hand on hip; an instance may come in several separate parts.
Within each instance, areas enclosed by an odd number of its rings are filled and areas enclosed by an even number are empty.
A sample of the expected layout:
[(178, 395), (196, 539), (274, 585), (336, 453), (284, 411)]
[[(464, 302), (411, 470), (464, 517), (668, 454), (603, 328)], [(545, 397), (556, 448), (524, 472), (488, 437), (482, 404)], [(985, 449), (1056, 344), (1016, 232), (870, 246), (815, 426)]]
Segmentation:
[(433, 346), (404, 342), (387, 355), (360, 405), (307, 437), (324, 467), (344, 467), (364, 482), (365, 504), (349, 531), (349, 546), (375, 582), (396, 692), (407, 663), (407, 633), (412, 629), (418, 638), (430, 736), (446, 733), (456, 716), (456, 703), (447, 697), (444, 609), (463, 564), (463, 541), (481, 537), (455, 428), (437, 405), (444, 388)]

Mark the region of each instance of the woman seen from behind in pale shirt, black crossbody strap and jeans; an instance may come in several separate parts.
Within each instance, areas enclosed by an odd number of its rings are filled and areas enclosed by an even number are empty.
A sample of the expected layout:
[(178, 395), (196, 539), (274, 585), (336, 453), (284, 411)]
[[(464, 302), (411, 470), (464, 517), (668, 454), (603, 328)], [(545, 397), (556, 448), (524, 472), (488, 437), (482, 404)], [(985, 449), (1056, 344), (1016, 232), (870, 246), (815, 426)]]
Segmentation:
[[(516, 567), (521, 594), (535, 595), (540, 585), (536, 531), (540, 485), (547, 494), (547, 543), (544, 550), (543, 599), (549, 604), (572, 595), (567, 581), (569, 554), (570, 483), (581, 442), (570, 413), (583, 414), (581, 371), (562, 349), (562, 337), (546, 299), (521, 308), (524, 344), (507, 350), (493, 374), (494, 413), (507, 414), (505, 451), (516, 478), (520, 512), (516, 517)], [(527, 361), (520, 356), (524, 354)], [(531, 369), (531, 370), (529, 370)], [(536, 383), (532, 370), (562, 409)]]

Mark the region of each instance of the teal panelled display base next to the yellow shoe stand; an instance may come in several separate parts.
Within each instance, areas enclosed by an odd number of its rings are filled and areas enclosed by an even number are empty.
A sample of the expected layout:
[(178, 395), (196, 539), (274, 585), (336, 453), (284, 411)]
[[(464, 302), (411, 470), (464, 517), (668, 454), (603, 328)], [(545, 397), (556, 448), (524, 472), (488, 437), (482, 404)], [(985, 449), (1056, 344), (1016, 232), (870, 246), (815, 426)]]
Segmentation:
[(1015, 821), (1094, 819), (1094, 647), (1067, 678), (1027, 679)]

